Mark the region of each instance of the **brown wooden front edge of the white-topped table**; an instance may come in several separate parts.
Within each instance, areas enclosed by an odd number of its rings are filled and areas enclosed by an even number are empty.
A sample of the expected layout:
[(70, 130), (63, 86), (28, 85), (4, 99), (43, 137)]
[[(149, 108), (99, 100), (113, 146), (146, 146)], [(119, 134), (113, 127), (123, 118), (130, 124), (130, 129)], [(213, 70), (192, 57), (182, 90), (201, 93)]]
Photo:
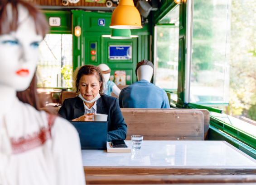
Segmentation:
[(85, 175), (255, 175), (255, 168), (241, 167), (83, 167)]

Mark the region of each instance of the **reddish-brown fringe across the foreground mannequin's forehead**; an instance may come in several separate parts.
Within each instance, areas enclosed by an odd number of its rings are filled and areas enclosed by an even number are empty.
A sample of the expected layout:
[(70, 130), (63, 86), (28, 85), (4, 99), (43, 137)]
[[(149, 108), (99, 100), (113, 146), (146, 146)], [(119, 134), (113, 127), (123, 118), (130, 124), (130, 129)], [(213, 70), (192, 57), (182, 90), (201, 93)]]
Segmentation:
[[(11, 11), (8, 9), (9, 5), (11, 5)], [(29, 11), (29, 15), (34, 18), (37, 34), (44, 37), (49, 30), (45, 16), (33, 5), (30, 5), (24, 0), (0, 0), (0, 35), (16, 31), (19, 27), (18, 5), (22, 5)]]

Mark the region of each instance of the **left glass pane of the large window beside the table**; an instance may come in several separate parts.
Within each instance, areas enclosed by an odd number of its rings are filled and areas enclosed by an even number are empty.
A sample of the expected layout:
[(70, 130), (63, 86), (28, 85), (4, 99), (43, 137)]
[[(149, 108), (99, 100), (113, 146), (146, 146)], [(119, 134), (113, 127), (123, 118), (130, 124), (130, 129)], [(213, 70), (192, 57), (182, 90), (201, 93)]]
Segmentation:
[(190, 103), (228, 104), (229, 0), (194, 0)]

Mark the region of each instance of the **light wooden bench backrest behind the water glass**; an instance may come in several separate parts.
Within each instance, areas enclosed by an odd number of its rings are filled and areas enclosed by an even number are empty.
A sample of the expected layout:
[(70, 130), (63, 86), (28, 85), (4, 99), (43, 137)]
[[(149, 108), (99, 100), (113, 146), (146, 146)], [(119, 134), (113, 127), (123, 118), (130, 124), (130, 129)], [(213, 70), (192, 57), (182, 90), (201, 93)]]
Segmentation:
[(143, 135), (144, 140), (203, 140), (203, 113), (175, 109), (122, 109), (131, 135)]

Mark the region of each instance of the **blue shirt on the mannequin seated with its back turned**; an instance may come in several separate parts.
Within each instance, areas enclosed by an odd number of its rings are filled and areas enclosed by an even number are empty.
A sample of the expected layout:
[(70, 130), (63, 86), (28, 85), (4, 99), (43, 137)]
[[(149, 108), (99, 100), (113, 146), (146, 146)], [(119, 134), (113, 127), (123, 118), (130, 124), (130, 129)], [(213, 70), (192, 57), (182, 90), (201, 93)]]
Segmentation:
[(166, 92), (147, 80), (140, 80), (126, 88), (119, 95), (120, 108), (170, 108)]

